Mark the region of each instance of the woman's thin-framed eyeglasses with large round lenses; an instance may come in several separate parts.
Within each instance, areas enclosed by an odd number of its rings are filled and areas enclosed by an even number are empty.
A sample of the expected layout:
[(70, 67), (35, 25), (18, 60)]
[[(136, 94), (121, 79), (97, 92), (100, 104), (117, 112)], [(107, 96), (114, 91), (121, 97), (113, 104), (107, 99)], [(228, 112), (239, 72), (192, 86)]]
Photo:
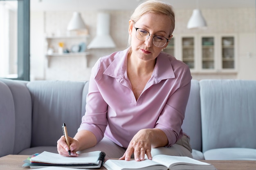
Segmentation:
[[(148, 39), (150, 37), (150, 34), (148, 31), (144, 30), (144, 29), (140, 29), (140, 28), (136, 28), (134, 27), (136, 30), (136, 38), (138, 40), (141, 41), (145, 41), (146, 39)], [(167, 38), (161, 36), (161, 35), (153, 35), (153, 44), (157, 47), (163, 47), (168, 41)]]

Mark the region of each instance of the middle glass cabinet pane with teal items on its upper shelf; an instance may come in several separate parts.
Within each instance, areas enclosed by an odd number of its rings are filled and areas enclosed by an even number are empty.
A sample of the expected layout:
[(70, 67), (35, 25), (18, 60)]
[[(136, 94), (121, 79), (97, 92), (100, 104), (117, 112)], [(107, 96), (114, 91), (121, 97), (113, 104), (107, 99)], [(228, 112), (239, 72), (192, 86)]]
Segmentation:
[(202, 37), (202, 69), (214, 69), (214, 37)]

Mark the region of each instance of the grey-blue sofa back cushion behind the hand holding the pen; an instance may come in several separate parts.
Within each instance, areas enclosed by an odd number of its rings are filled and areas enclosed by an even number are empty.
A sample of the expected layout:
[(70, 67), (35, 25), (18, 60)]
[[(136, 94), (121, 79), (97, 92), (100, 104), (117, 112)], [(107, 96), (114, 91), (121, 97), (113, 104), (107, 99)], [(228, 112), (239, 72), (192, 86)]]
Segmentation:
[(56, 80), (27, 84), (33, 103), (31, 147), (56, 146), (56, 141), (63, 135), (63, 123), (68, 135), (74, 137), (85, 112), (83, 102), (87, 84)]

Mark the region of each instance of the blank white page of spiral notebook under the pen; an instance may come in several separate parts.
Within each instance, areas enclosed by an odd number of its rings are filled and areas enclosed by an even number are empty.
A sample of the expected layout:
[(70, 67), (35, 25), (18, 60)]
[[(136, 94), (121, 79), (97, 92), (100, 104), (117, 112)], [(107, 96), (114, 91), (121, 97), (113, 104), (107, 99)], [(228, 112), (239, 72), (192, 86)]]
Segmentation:
[(101, 151), (93, 151), (87, 153), (81, 153), (78, 157), (64, 157), (57, 153), (42, 152), (36, 157), (30, 159), (33, 163), (51, 163), (51, 164), (99, 164), (99, 154)]

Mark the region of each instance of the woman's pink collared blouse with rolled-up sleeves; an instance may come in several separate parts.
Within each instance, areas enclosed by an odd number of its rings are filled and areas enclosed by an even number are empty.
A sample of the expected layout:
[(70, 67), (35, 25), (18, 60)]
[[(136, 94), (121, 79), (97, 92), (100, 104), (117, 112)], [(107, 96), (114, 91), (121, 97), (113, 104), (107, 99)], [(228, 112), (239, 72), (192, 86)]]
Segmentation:
[(90, 130), (127, 148), (132, 137), (144, 128), (159, 128), (172, 146), (183, 136), (182, 122), (189, 98), (189, 67), (161, 52), (153, 74), (135, 99), (127, 76), (129, 48), (101, 57), (92, 68), (86, 113), (78, 130)]

